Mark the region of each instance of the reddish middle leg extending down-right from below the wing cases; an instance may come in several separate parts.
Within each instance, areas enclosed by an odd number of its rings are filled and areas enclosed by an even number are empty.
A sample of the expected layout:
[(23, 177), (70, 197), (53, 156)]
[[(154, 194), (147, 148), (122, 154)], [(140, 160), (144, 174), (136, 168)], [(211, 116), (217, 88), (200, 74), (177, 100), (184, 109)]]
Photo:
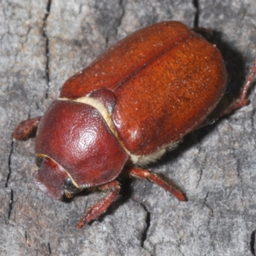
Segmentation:
[(139, 168), (131, 168), (128, 170), (129, 175), (134, 178), (147, 179), (152, 182), (155, 182), (157, 185), (164, 188), (166, 191), (170, 192), (173, 196), (175, 196), (180, 201), (186, 201), (186, 196), (184, 193), (180, 192), (178, 189), (173, 188), (172, 185), (168, 184), (164, 179), (159, 177), (157, 174), (152, 173), (148, 170), (143, 170)]

